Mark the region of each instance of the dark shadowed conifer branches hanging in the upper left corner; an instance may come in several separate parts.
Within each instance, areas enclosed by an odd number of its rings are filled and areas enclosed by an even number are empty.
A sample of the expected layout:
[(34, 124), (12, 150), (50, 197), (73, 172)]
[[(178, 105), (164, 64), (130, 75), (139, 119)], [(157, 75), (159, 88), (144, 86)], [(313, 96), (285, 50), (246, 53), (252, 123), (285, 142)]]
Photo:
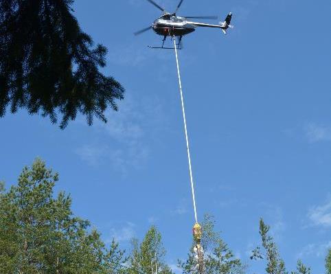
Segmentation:
[[(124, 88), (104, 76), (106, 48), (72, 15), (73, 0), (0, 1), (0, 117), (10, 106), (16, 113), (62, 115), (60, 128), (77, 113), (106, 122), (107, 106), (117, 110)], [(93, 4), (93, 3), (91, 3)]]

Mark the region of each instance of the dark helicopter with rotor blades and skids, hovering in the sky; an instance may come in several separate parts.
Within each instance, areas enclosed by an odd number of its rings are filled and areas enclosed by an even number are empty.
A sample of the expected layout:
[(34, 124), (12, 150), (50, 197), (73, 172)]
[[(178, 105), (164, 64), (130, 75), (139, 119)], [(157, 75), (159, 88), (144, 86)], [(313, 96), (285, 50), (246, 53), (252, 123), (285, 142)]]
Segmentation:
[(173, 47), (164, 47), (165, 39), (170, 36), (170, 38), (179, 37), (178, 49), (182, 49), (182, 38), (183, 36), (190, 34), (196, 30), (196, 27), (215, 27), (222, 30), (224, 34), (227, 34), (227, 29), (233, 28), (233, 25), (230, 25), (232, 13), (229, 12), (224, 22), (220, 22), (219, 25), (212, 25), (207, 23), (198, 23), (194, 21), (190, 21), (190, 19), (217, 19), (218, 16), (177, 16), (176, 13), (181, 8), (181, 5), (184, 0), (180, 0), (179, 4), (176, 7), (176, 10), (173, 13), (167, 12), (164, 8), (162, 8), (159, 4), (157, 4), (153, 0), (147, 0), (152, 5), (155, 5), (156, 8), (161, 10), (163, 14), (152, 23), (149, 27), (144, 28), (143, 30), (139, 30), (135, 32), (135, 36), (147, 32), (148, 30), (154, 30), (156, 34), (163, 36), (163, 41), (161, 47), (151, 47), (152, 49), (174, 49)]

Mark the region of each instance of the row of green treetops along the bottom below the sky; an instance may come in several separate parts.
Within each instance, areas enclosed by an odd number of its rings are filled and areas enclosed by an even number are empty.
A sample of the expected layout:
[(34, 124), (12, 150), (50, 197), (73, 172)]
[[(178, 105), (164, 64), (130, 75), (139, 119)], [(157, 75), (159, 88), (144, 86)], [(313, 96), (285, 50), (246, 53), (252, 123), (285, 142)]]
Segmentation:
[[(106, 246), (100, 233), (88, 220), (74, 216), (71, 198), (60, 192), (54, 198), (58, 174), (36, 159), (25, 167), (18, 183), (5, 190), (0, 183), (0, 273), (1, 274), (172, 274), (165, 262), (161, 233), (152, 226), (144, 239), (132, 240), (130, 253), (113, 242)], [(205, 274), (243, 274), (248, 267), (233, 255), (215, 229), (212, 216), (206, 215), (201, 244), (205, 251)], [(252, 260), (265, 260), (266, 273), (287, 274), (270, 227), (260, 220), (262, 243), (252, 251)], [(184, 274), (198, 274), (192, 248), (187, 259), (179, 260)], [(300, 260), (291, 274), (310, 273)], [(326, 258), (326, 273), (331, 274), (331, 250)]]

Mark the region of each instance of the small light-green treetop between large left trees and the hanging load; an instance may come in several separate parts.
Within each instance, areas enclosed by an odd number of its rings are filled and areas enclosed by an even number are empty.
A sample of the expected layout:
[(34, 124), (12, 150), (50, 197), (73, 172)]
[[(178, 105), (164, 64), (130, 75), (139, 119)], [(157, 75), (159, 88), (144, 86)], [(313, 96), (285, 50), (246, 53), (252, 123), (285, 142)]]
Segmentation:
[(130, 255), (129, 274), (172, 274), (170, 267), (165, 264), (165, 249), (161, 233), (155, 226), (148, 229), (144, 240), (139, 244), (133, 239), (133, 251)]

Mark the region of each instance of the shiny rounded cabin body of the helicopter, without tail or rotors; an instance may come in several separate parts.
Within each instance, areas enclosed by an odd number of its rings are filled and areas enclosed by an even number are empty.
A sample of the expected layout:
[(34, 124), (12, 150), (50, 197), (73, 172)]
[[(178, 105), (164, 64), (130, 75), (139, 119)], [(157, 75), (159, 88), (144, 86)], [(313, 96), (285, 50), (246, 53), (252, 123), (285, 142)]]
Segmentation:
[(179, 16), (161, 16), (154, 21), (152, 29), (161, 36), (184, 36), (196, 30), (185, 17)]

